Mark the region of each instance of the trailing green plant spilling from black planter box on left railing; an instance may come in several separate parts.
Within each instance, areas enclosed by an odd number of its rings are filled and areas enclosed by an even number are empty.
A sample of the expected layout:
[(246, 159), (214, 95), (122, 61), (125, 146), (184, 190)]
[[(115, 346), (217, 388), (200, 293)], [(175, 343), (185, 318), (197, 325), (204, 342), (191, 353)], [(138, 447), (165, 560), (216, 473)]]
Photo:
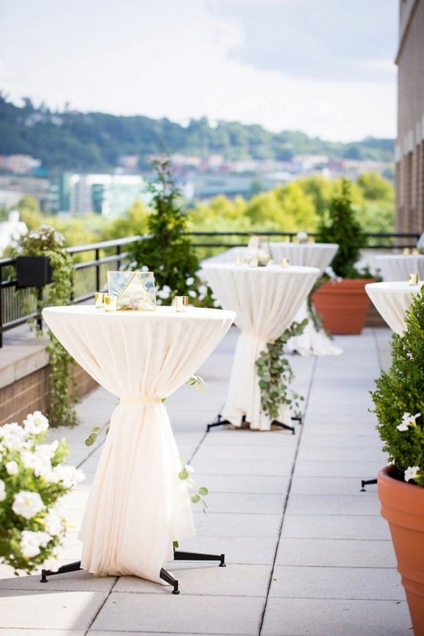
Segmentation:
[[(20, 238), (16, 256), (47, 257), (52, 268), (52, 283), (43, 288), (42, 298), (37, 298), (37, 311), (44, 307), (68, 305), (73, 288), (73, 261), (64, 249), (64, 237), (49, 227), (41, 225), (39, 230), (32, 230)], [(34, 290), (34, 294), (35, 294)], [(36, 326), (37, 336), (43, 330)], [(76, 386), (73, 374), (75, 362), (71, 355), (61, 346), (52, 331), (49, 331), (49, 406), (47, 416), (52, 427), (75, 426), (78, 423), (75, 404), (76, 397), (72, 391)]]

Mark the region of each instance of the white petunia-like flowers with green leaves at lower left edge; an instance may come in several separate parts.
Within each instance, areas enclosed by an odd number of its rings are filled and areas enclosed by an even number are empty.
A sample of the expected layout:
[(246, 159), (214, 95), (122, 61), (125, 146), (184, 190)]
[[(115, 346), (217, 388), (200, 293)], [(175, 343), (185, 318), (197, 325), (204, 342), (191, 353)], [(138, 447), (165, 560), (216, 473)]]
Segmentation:
[(69, 447), (62, 439), (47, 443), (49, 422), (40, 411), (23, 426), (0, 426), (0, 560), (18, 574), (42, 564), (54, 568), (66, 532), (59, 500), (82, 471), (63, 463)]

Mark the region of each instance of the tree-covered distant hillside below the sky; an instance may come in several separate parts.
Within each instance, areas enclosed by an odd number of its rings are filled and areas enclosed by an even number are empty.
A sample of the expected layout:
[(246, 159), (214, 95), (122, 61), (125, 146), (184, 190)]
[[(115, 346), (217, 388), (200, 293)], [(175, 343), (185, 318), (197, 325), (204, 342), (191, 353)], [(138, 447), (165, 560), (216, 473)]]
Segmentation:
[(394, 140), (368, 137), (355, 143), (333, 143), (298, 131), (275, 134), (262, 126), (192, 119), (184, 127), (169, 119), (120, 117), (73, 110), (52, 112), (26, 99), (17, 107), (0, 95), (0, 154), (32, 155), (49, 172), (109, 171), (119, 156), (138, 155), (148, 166), (153, 153), (206, 156), (226, 159), (290, 160), (293, 155), (319, 154), (330, 158), (393, 161)]

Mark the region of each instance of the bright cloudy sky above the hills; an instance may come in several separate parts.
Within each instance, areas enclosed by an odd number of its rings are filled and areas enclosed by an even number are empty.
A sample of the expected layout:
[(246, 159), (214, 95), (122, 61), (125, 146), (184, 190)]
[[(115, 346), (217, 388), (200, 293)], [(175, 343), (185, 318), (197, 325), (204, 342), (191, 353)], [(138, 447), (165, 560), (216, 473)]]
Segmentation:
[(0, 0), (0, 91), (52, 110), (396, 136), (399, 0)]

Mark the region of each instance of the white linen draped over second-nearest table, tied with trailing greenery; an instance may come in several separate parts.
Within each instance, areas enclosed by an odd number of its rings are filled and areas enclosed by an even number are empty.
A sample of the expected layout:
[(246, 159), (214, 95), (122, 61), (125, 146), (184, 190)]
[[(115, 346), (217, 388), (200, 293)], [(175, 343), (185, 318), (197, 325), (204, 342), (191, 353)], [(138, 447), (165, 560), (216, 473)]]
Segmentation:
[[(266, 342), (281, 336), (290, 325), (302, 300), (310, 293), (319, 269), (209, 263), (203, 264), (202, 274), (221, 307), (236, 312), (235, 322), (242, 330), (222, 416), (235, 426), (241, 426), (245, 416), (250, 428), (270, 430), (271, 420), (261, 411), (255, 361)], [(281, 409), (279, 420), (290, 422), (287, 407)]]

